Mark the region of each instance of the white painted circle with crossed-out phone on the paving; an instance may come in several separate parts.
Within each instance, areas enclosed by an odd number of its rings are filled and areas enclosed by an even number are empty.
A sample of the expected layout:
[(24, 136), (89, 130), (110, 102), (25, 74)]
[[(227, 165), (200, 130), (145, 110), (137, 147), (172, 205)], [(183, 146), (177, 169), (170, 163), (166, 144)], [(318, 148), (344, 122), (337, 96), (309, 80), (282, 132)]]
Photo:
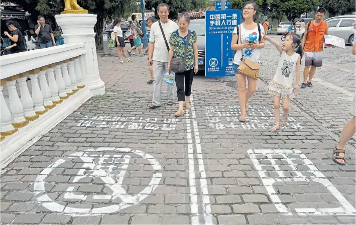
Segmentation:
[[(97, 154), (95, 154), (95, 152), (97, 152)], [(111, 153), (111, 154), (105, 154), (105, 153)], [(119, 153), (119, 154), (113, 154), (113, 153)], [(130, 155), (124, 155), (124, 156), (120, 155), (120, 153), (136, 154), (142, 157), (143, 159), (146, 159), (153, 167), (154, 173), (150, 183), (147, 185), (147, 187), (145, 187), (140, 193), (136, 195), (127, 194), (126, 190), (122, 187), (122, 183), (125, 178), (125, 173), (129, 166), (129, 161), (131, 157)], [(91, 209), (91, 208), (74, 208), (74, 207), (68, 207), (59, 204), (53, 201), (48, 196), (47, 193), (37, 197), (37, 200), (41, 202), (41, 204), (44, 207), (46, 207), (47, 209), (53, 212), (62, 212), (64, 214), (72, 214), (72, 215), (75, 214), (77, 216), (107, 214), (107, 213), (117, 212), (124, 208), (130, 207), (131, 205), (138, 204), (143, 199), (145, 199), (148, 195), (152, 194), (162, 178), (162, 173), (158, 172), (159, 170), (162, 169), (159, 162), (155, 158), (153, 158), (153, 156), (151, 156), (150, 154), (139, 150), (134, 150), (129, 148), (87, 149), (85, 151), (80, 151), (80, 152), (75, 152), (73, 154), (70, 154), (68, 157), (65, 158), (80, 159), (80, 163), (83, 164), (82, 168), (89, 168), (89, 170), (79, 169), (77, 176), (75, 176), (74, 179), (71, 181), (73, 184), (75, 184), (76, 182), (78, 182), (80, 179), (84, 177), (99, 177), (100, 179), (102, 179), (103, 183), (105, 183), (105, 186), (111, 189), (112, 193), (106, 195), (102, 195), (102, 194), (93, 195), (93, 198), (111, 199), (111, 200), (115, 198), (120, 198), (122, 202), (118, 204), (110, 204), (108, 206)], [(99, 160), (94, 163), (93, 161), (95, 161), (95, 159), (99, 159)], [(105, 159), (111, 160), (111, 162), (109, 161), (105, 162)], [(38, 175), (36, 178), (36, 182), (34, 183), (34, 191), (37, 191), (39, 193), (44, 192), (45, 184), (46, 184), (45, 179), (54, 168), (58, 167), (64, 162), (66, 162), (64, 159), (58, 159), (56, 162), (52, 163), (47, 168), (43, 169), (40, 175)], [(107, 166), (108, 164), (110, 165)], [(115, 166), (115, 164), (116, 165), (122, 164), (123, 166), (118, 167)], [(106, 169), (105, 170), (101, 169), (103, 167), (105, 167)], [(113, 167), (121, 169), (120, 173), (112, 174), (111, 172), (114, 172), (112, 170)], [(84, 174), (84, 171), (85, 172), (89, 171), (90, 174), (88, 174), (88, 172)], [(73, 193), (73, 189), (74, 186), (69, 187), (67, 189), (66, 194), (69, 194), (71, 196), (70, 198), (77, 198), (78, 201), (86, 199), (87, 195), (75, 194)]]

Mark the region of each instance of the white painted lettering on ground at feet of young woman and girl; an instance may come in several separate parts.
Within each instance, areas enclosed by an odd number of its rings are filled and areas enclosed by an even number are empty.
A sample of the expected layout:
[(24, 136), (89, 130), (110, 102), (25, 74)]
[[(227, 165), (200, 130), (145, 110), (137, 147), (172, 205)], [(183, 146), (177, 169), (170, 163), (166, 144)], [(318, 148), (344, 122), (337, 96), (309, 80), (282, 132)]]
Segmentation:
[[(246, 123), (239, 121), (240, 105), (205, 106), (209, 128), (215, 129), (269, 129), (274, 124), (273, 111), (264, 105), (250, 105)], [(281, 110), (281, 119), (283, 110)], [(288, 125), (281, 129), (303, 129), (293, 117), (288, 117)]]

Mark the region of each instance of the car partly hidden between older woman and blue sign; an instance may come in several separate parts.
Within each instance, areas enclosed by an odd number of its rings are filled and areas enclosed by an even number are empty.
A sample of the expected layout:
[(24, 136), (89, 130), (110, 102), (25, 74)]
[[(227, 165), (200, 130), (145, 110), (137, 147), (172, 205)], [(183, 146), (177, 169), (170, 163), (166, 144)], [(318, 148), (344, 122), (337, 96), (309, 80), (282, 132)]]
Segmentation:
[(205, 70), (205, 19), (191, 20), (189, 30), (195, 31), (198, 37), (198, 67)]

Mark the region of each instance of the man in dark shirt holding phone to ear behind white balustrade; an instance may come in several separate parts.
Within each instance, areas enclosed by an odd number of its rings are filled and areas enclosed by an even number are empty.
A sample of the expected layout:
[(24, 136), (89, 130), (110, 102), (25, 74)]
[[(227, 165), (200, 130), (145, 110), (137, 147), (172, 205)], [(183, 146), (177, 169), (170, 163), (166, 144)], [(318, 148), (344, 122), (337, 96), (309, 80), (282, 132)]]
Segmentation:
[(45, 18), (43, 16), (38, 16), (37, 23), (35, 33), (40, 41), (40, 48), (56, 46), (52, 28), (48, 24), (45, 24)]

